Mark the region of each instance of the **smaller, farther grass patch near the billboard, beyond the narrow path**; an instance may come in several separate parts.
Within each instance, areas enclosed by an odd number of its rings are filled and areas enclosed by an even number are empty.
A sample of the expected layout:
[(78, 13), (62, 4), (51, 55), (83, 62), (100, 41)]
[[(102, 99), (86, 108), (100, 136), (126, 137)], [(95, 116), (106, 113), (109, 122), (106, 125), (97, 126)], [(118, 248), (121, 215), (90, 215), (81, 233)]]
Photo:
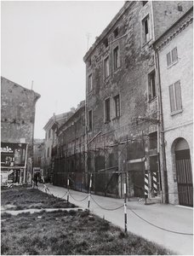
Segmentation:
[(12, 204), (9, 210), (23, 210), (30, 208), (74, 208), (75, 205), (67, 201), (48, 195), (38, 189), (4, 189), (1, 191), (2, 206)]

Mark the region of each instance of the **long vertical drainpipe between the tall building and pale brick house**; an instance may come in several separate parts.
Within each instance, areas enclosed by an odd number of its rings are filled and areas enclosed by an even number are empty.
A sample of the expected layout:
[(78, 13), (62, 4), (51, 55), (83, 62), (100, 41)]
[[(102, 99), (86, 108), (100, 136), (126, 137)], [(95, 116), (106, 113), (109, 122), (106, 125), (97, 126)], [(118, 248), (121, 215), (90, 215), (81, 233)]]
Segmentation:
[[(161, 200), (163, 203), (168, 203), (168, 177), (166, 167), (166, 154), (165, 154), (165, 143), (163, 133), (163, 102), (162, 102), (162, 90), (161, 90), (161, 79), (160, 79), (160, 65), (159, 56), (156, 49), (154, 49), (154, 59), (156, 65), (156, 77), (157, 77), (157, 160), (158, 167), (160, 169), (160, 183), (162, 189)], [(161, 146), (160, 146), (161, 143)]]

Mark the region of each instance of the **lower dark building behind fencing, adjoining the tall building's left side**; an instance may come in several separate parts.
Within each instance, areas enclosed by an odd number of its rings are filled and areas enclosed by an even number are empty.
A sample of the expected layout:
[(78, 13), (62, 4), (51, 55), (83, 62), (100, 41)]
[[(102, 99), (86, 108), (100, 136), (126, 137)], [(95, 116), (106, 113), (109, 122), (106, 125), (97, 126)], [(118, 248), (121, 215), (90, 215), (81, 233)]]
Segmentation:
[(84, 190), (86, 166), (85, 101), (57, 128), (58, 148), (54, 154), (54, 184), (66, 186), (67, 177), (71, 189)]

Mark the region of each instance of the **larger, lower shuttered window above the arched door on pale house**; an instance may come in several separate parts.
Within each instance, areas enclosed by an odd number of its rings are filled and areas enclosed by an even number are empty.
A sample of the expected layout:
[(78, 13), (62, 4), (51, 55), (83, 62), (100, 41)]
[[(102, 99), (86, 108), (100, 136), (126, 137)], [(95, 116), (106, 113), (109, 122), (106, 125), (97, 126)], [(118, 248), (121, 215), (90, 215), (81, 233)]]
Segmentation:
[(182, 109), (180, 81), (177, 81), (176, 83), (169, 85), (169, 99), (171, 113), (174, 113)]

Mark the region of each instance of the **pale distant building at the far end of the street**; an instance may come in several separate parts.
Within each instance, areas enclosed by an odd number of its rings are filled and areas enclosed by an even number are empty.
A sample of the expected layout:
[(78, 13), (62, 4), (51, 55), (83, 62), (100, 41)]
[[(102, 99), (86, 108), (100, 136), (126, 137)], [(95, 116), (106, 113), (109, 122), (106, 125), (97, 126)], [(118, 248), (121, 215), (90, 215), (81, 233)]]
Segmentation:
[(43, 127), (45, 131), (44, 140), (44, 166), (43, 166), (43, 176), (46, 182), (51, 182), (53, 179), (53, 169), (54, 169), (54, 151), (57, 148), (58, 138), (56, 137), (56, 129), (58, 125), (66, 122), (66, 119), (71, 116), (73, 109), (68, 113), (60, 113), (53, 115)]

